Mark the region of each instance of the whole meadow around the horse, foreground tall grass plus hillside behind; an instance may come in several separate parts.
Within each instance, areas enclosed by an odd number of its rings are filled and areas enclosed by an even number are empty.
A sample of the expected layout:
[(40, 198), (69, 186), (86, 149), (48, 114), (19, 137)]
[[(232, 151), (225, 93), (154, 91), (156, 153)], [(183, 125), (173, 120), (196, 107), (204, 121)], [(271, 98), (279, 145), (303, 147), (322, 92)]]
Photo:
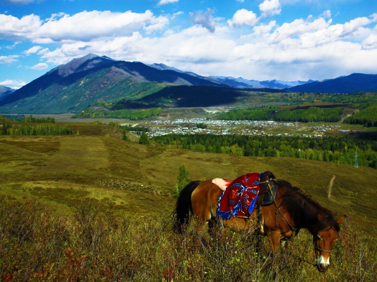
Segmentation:
[[(0, 275), (5, 281), (376, 280), (376, 171), (294, 158), (200, 153), (64, 124), (72, 135), (0, 136)], [(135, 138), (131, 138), (135, 140)], [(303, 230), (271, 256), (266, 238), (215, 228), (211, 242), (171, 230), (179, 167), (192, 180), (272, 171), (347, 214), (319, 273)], [(335, 176), (329, 195), (329, 184)]]

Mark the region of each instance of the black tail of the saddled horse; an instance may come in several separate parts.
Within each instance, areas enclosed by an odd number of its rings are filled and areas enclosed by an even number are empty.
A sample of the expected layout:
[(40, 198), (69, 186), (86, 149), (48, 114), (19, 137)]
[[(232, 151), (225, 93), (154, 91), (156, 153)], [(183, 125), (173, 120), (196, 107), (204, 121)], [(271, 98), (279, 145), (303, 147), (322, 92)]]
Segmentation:
[(193, 194), (195, 188), (198, 187), (199, 183), (200, 181), (192, 181), (187, 184), (179, 193), (174, 209), (174, 229), (179, 233), (182, 233), (182, 226), (189, 222), (190, 213), (193, 212), (191, 206), (191, 195)]

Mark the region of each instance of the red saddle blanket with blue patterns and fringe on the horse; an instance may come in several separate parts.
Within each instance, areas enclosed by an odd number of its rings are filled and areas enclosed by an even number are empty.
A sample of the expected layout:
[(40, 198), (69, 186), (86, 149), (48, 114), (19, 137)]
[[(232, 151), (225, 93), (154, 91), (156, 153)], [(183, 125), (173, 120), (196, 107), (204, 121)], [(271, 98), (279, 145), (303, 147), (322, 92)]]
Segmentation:
[(249, 173), (233, 180), (219, 198), (217, 217), (250, 217), (259, 193), (259, 173)]

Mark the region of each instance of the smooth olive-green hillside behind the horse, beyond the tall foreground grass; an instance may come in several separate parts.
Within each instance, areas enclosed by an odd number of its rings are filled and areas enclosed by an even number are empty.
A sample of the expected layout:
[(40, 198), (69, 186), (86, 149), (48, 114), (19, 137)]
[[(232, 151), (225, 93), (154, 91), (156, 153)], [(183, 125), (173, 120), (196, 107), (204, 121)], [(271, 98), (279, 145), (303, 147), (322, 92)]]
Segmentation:
[[(72, 125), (73, 133), (85, 133), (79, 126)], [(115, 128), (89, 128), (97, 132), (93, 134), (107, 136), (0, 136), (0, 193), (18, 199), (37, 197), (63, 212), (69, 212), (69, 207), (83, 197), (108, 198), (127, 214), (145, 214), (147, 208), (148, 215), (156, 217), (173, 209), (171, 193), (181, 165), (192, 180), (234, 179), (270, 170), (377, 234), (377, 211), (373, 208), (377, 175), (371, 168), (142, 146), (121, 140)], [(328, 186), (333, 176), (329, 200)]]

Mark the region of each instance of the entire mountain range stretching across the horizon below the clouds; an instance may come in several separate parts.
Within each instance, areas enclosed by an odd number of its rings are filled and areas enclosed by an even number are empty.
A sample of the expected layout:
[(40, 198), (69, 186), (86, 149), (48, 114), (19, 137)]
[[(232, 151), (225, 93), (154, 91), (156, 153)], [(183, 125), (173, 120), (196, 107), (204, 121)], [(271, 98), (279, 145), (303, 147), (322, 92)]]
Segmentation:
[(146, 65), (88, 54), (50, 70), (20, 89), (0, 86), (0, 112), (76, 113), (101, 101), (128, 108), (161, 104), (210, 106), (237, 100), (245, 95), (245, 88), (328, 93), (372, 91), (377, 90), (377, 75), (352, 74), (322, 82), (256, 81), (204, 77), (164, 64)]

